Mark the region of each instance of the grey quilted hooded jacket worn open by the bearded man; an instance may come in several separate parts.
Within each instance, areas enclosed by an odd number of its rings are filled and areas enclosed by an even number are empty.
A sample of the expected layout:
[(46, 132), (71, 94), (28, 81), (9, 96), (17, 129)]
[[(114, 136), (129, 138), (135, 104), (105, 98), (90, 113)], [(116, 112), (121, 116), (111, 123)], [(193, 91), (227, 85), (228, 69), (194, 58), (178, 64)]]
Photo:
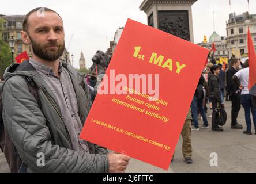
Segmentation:
[[(62, 64), (70, 74), (84, 123), (90, 109), (88, 87), (74, 68)], [(41, 109), (21, 75), (31, 78), (39, 88)], [(27, 172), (108, 172), (106, 148), (88, 142), (90, 153), (73, 150), (54, 95), (31, 64), (11, 65), (4, 78), (3, 121), (18, 154), (28, 166)], [(45, 166), (37, 166), (40, 153), (45, 156)]]

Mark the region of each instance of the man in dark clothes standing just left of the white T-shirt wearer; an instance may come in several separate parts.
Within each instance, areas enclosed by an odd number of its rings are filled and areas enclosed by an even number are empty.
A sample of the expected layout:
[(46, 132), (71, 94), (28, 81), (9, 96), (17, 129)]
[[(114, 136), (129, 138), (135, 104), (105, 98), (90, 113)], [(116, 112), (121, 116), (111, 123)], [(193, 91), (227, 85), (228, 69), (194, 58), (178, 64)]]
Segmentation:
[(238, 113), (241, 108), (240, 105), (240, 95), (241, 89), (236, 86), (232, 77), (238, 72), (240, 66), (240, 61), (237, 58), (233, 58), (230, 63), (230, 67), (227, 71), (227, 93), (230, 94), (232, 107), (231, 107), (231, 128), (242, 129), (243, 126), (238, 124), (237, 118)]

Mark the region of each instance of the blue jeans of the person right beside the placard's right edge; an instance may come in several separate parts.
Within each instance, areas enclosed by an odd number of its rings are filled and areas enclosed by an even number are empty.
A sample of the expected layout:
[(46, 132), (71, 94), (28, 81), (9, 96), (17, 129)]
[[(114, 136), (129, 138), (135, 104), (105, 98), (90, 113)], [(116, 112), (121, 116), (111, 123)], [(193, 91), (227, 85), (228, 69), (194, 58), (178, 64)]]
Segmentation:
[(194, 97), (190, 106), (191, 106), (191, 112), (193, 116), (194, 127), (198, 128), (198, 109), (202, 115), (204, 125), (208, 126), (207, 117), (203, 107), (203, 99), (198, 99), (197, 97)]

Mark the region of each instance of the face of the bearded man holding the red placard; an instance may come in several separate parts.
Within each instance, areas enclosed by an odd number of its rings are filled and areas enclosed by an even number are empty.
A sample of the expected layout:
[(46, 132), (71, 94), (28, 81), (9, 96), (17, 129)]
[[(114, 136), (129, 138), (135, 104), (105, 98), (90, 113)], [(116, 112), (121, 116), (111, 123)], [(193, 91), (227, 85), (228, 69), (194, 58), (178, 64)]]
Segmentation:
[(37, 57), (52, 62), (62, 56), (64, 29), (58, 14), (46, 11), (44, 16), (38, 16), (36, 12), (32, 13), (28, 18), (27, 33), (28, 43)]

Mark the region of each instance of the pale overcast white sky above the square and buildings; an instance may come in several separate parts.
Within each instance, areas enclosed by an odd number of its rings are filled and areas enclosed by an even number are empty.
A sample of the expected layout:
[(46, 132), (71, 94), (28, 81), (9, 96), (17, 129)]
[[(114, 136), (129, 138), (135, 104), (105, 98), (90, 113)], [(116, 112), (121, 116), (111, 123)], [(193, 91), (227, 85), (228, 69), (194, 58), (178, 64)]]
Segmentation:
[[(12, 0), (2, 3), (0, 14), (26, 14), (40, 6), (57, 11), (64, 21), (66, 47), (70, 44), (69, 52), (74, 55), (74, 67), (79, 67), (81, 51), (84, 52), (86, 67), (91, 67), (92, 56), (97, 50), (107, 50), (116, 29), (125, 26), (127, 18), (147, 23), (146, 14), (139, 9), (141, 2), (142, 0)], [(256, 0), (250, 0), (249, 6), (250, 14), (256, 14)], [(231, 0), (231, 9), (236, 14), (248, 11), (247, 0)], [(204, 35), (209, 39), (212, 34), (213, 10), (216, 32), (220, 36), (226, 36), (225, 22), (231, 12), (229, 0), (198, 0), (192, 6), (195, 43), (201, 43)]]

